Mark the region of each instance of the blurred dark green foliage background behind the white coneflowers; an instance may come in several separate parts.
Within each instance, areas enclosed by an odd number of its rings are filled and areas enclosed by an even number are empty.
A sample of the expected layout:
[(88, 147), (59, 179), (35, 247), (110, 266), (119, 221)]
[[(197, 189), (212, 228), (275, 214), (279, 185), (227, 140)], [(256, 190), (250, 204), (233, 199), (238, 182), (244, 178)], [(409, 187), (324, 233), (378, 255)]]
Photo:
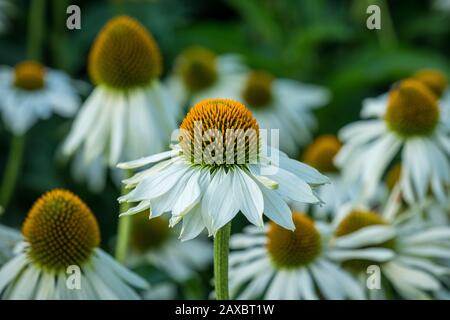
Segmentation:
[[(16, 7), (9, 31), (0, 36), (0, 64), (25, 59), (29, 5)], [(46, 65), (63, 69), (89, 83), (87, 55), (104, 23), (119, 13), (138, 19), (155, 36), (164, 57), (164, 76), (174, 58), (191, 45), (217, 53), (239, 53), (245, 62), (275, 76), (329, 88), (333, 98), (317, 110), (317, 134), (336, 133), (357, 120), (361, 101), (386, 91), (390, 84), (424, 67), (450, 74), (450, 1), (363, 0), (47, 0), (44, 28)], [(66, 7), (81, 8), (81, 30), (67, 30)], [(366, 28), (366, 8), (378, 4), (382, 29)], [(447, 7), (447, 10), (445, 10)], [(0, 97), (1, 99), (1, 97)], [(102, 246), (111, 250), (118, 221), (112, 183), (101, 194), (77, 184), (69, 166), (59, 161), (58, 148), (71, 120), (54, 116), (27, 134), (21, 176), (5, 224), (20, 227), (33, 202), (59, 187), (78, 194), (96, 214)], [(10, 134), (0, 124), (0, 174), (9, 151)], [(299, 150), (301, 154), (301, 150)], [(236, 223), (239, 229), (242, 223)], [(152, 268), (137, 270), (152, 282), (165, 275)], [(179, 288), (181, 298), (205, 298), (209, 271)], [(200, 280), (200, 281), (198, 281)]]

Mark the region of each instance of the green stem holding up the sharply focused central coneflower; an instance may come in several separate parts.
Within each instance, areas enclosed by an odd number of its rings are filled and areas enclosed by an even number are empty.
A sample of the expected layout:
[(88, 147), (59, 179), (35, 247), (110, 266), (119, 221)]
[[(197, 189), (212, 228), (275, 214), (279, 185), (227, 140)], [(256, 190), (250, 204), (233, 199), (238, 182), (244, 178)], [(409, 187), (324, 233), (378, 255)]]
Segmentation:
[(228, 300), (228, 252), (231, 222), (219, 229), (214, 237), (214, 283), (217, 300)]

